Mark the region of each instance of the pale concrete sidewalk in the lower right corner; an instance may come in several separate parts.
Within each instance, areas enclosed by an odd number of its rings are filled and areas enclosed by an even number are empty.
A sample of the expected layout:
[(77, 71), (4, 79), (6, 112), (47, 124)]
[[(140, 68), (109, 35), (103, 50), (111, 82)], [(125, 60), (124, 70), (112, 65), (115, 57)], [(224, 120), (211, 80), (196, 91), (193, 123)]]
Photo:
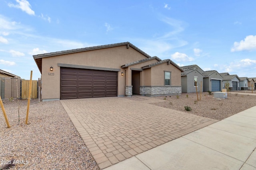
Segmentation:
[(256, 170), (256, 106), (104, 170)]

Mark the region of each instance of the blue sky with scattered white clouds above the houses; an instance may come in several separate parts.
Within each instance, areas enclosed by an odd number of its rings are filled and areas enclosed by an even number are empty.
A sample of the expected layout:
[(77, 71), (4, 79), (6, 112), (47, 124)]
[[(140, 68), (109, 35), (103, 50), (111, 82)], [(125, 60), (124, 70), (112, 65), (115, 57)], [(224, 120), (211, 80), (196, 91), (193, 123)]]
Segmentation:
[[(130, 42), (179, 66), (256, 77), (254, 0), (0, 0), (0, 69), (33, 80), (32, 55)], [(124, 63), (125, 64), (125, 63)]]

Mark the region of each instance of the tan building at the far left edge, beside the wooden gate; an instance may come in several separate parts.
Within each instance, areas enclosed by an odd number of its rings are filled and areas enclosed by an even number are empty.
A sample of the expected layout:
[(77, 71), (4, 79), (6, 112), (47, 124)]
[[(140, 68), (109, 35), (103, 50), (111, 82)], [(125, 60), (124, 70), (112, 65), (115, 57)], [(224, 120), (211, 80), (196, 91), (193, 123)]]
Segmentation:
[(0, 70), (0, 96), (2, 99), (20, 98), (20, 77)]

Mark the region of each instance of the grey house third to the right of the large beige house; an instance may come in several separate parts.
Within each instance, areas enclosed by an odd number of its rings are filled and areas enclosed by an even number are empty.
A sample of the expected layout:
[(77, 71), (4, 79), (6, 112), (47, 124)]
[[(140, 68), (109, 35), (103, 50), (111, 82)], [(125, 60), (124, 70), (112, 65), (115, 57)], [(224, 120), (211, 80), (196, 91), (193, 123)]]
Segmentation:
[(220, 73), (220, 75), (222, 75), (223, 81), (224, 81), (223, 88), (225, 88), (226, 83), (229, 83), (230, 90), (233, 90), (233, 91), (239, 90), (240, 78), (236, 74), (230, 75), (227, 72), (225, 72), (225, 73)]

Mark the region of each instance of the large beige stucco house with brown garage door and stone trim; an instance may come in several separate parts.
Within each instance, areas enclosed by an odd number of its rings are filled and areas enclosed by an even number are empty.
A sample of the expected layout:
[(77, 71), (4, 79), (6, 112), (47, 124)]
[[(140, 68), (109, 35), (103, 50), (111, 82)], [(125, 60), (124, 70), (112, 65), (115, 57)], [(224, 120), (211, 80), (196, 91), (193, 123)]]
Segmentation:
[(33, 55), (42, 100), (181, 94), (181, 72), (129, 42)]

